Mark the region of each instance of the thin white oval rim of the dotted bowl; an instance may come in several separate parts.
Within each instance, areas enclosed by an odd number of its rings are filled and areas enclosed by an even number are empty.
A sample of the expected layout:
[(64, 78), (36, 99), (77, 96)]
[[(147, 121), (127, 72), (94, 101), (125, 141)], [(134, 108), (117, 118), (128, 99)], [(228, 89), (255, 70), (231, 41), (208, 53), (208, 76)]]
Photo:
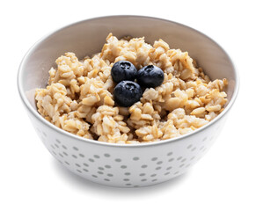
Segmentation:
[[(99, 142), (97, 140), (91, 140), (91, 139), (87, 139), (87, 138), (84, 138), (84, 137), (81, 137), (81, 136), (78, 136), (78, 135), (73, 135), (73, 134), (69, 133), (68, 131), (63, 130), (60, 127), (56, 127), (54, 124), (50, 123), (48, 120), (45, 120), (40, 115), (40, 113), (38, 113), (37, 110), (35, 110), (33, 108), (33, 106), (30, 105), (28, 99), (26, 98), (25, 92), (23, 90), (23, 82), (22, 82), (21, 78), (22, 78), (23, 73), (24, 73), (24, 66), (25, 66), (25, 62), (26, 62), (27, 58), (29, 57), (29, 55), (31, 55), (31, 53), (33, 52), (33, 49), (35, 47), (40, 45), (40, 43), (43, 40), (48, 39), (48, 37), (52, 36), (53, 34), (55, 34), (57, 32), (60, 32), (60, 31), (64, 30), (65, 28), (68, 28), (68, 27), (71, 27), (71, 26), (74, 26), (74, 25), (79, 25), (79, 24), (81, 24), (83, 22), (91, 21), (91, 20), (94, 20), (94, 19), (101, 19), (101, 18), (102, 19), (104, 19), (104, 18), (149, 18), (149, 19), (157, 19), (157, 20), (160, 20), (160, 21), (169, 22), (169, 23), (172, 23), (172, 24), (175, 24), (175, 25), (179, 25), (181, 27), (185, 27), (185, 28), (187, 28), (187, 29), (189, 29), (191, 31), (194, 31), (195, 33), (201, 34), (202, 36), (204, 36), (208, 40), (212, 41), (216, 45), (216, 47), (219, 47), (223, 51), (223, 53), (225, 55), (227, 55), (227, 57), (229, 58), (229, 60), (231, 62), (231, 65), (232, 65), (233, 70), (234, 70), (234, 75), (235, 75), (235, 88), (234, 88), (234, 92), (233, 92), (232, 98), (230, 98), (230, 102), (228, 102), (228, 105), (224, 108), (223, 112), (220, 113), (214, 120), (211, 120), (210, 122), (208, 122), (208, 124), (206, 124), (206, 125), (204, 125), (204, 126), (202, 126), (200, 128), (197, 128), (193, 132), (188, 133), (186, 135), (180, 135), (178, 137), (162, 140), (162, 141), (159, 141), (159, 142), (143, 142), (143, 143)], [(22, 61), (20, 62), (20, 65), (19, 65), (19, 68), (18, 68), (17, 83), (18, 83), (18, 93), (19, 93), (19, 96), (20, 96), (23, 104), (26, 106), (26, 109), (30, 113), (32, 113), (35, 118), (40, 120), (40, 122), (45, 124), (47, 127), (51, 127), (56, 132), (58, 132), (58, 133), (60, 133), (62, 135), (67, 135), (67, 136), (69, 136), (69, 138), (75, 139), (75, 140), (77, 140), (79, 142), (88, 142), (88, 143), (91, 143), (91, 144), (96, 144), (96, 145), (101, 145), (101, 146), (106, 146), (106, 147), (138, 148), (138, 147), (150, 147), (150, 146), (155, 146), (155, 145), (161, 145), (161, 144), (165, 144), (165, 143), (169, 143), (169, 142), (179, 142), (179, 141), (181, 141), (181, 140), (183, 140), (183, 139), (185, 139), (185, 138), (187, 138), (189, 136), (192, 136), (192, 135), (195, 135), (197, 133), (200, 133), (202, 130), (204, 130), (204, 129), (214, 125), (218, 120), (223, 119), (223, 116), (225, 116), (226, 113), (228, 113), (230, 111), (231, 106), (233, 106), (236, 98), (238, 97), (238, 90), (239, 90), (240, 81), (239, 81), (239, 76), (238, 76), (238, 69), (236, 68), (234, 62), (232, 62), (232, 60), (230, 58), (230, 55), (227, 54), (227, 52), (223, 49), (223, 47), (221, 47), (216, 42), (216, 40), (211, 39), (210, 37), (208, 37), (208, 35), (206, 35), (204, 33), (201, 33), (200, 31), (194, 29), (193, 27), (190, 27), (188, 25), (183, 25), (183, 24), (180, 24), (180, 23), (178, 23), (176, 21), (168, 20), (168, 19), (165, 19), (165, 18), (156, 18), (156, 17), (139, 16), (139, 15), (113, 15), (113, 16), (101, 16), (101, 17), (96, 17), (96, 18), (87, 18), (87, 19), (79, 20), (79, 21), (71, 23), (69, 25), (64, 25), (64, 26), (56, 29), (55, 31), (53, 31), (51, 33), (48, 33), (45, 36), (43, 36), (42, 38), (40, 38), (40, 40), (36, 41), (33, 44), (33, 46), (28, 49), (28, 51), (26, 52), (26, 55), (24, 55)]]

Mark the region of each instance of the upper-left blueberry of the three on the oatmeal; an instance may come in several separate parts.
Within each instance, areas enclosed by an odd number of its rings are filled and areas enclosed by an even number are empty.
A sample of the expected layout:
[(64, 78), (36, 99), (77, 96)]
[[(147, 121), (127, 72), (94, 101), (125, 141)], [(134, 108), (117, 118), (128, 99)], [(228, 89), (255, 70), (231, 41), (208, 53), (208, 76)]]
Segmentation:
[(137, 69), (135, 65), (128, 61), (119, 61), (113, 64), (111, 69), (111, 76), (115, 83), (121, 81), (134, 81), (137, 76)]

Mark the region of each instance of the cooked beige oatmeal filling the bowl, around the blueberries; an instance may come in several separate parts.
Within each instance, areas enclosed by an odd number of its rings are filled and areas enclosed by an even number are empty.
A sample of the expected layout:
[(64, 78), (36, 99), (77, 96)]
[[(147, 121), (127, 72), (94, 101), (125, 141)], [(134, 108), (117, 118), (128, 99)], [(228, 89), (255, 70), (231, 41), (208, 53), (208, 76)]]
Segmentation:
[[(119, 61), (137, 70), (162, 69), (162, 84), (143, 88), (132, 106), (119, 106), (111, 76)], [(79, 61), (66, 53), (56, 64), (47, 88), (36, 90), (38, 112), (56, 127), (99, 142), (157, 142), (184, 135), (216, 118), (227, 102), (225, 78), (211, 81), (187, 52), (170, 49), (164, 40), (150, 46), (144, 38), (118, 40), (110, 33), (99, 54)]]

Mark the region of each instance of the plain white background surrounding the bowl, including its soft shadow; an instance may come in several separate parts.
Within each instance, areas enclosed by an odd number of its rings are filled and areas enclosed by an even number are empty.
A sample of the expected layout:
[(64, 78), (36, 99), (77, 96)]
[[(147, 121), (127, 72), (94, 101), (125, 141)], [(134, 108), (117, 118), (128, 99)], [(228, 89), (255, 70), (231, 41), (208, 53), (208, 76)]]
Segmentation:
[[(253, 2), (2, 2), (0, 210), (255, 210)], [(187, 174), (157, 186), (120, 189), (72, 175), (40, 142), (18, 97), (18, 65), (35, 41), (84, 18), (117, 14), (167, 18), (206, 33), (230, 54), (241, 77), (238, 99), (216, 144)]]

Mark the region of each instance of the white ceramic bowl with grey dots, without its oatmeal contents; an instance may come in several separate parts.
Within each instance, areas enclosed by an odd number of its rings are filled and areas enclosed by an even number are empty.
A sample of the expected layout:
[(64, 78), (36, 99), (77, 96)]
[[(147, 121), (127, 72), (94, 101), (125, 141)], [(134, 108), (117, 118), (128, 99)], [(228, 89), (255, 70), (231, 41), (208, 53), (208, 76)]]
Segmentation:
[[(49, 123), (37, 112), (35, 89), (46, 87), (57, 57), (68, 51), (81, 59), (97, 53), (108, 33), (118, 38), (145, 36), (150, 44), (165, 40), (172, 48), (187, 51), (211, 79), (227, 78), (223, 113), (193, 133), (142, 144), (88, 140)], [(222, 47), (193, 28), (160, 18), (110, 16), (65, 26), (39, 40), (20, 64), (18, 91), (40, 140), (69, 171), (106, 186), (151, 186), (183, 174), (210, 149), (238, 95), (238, 72)]]

